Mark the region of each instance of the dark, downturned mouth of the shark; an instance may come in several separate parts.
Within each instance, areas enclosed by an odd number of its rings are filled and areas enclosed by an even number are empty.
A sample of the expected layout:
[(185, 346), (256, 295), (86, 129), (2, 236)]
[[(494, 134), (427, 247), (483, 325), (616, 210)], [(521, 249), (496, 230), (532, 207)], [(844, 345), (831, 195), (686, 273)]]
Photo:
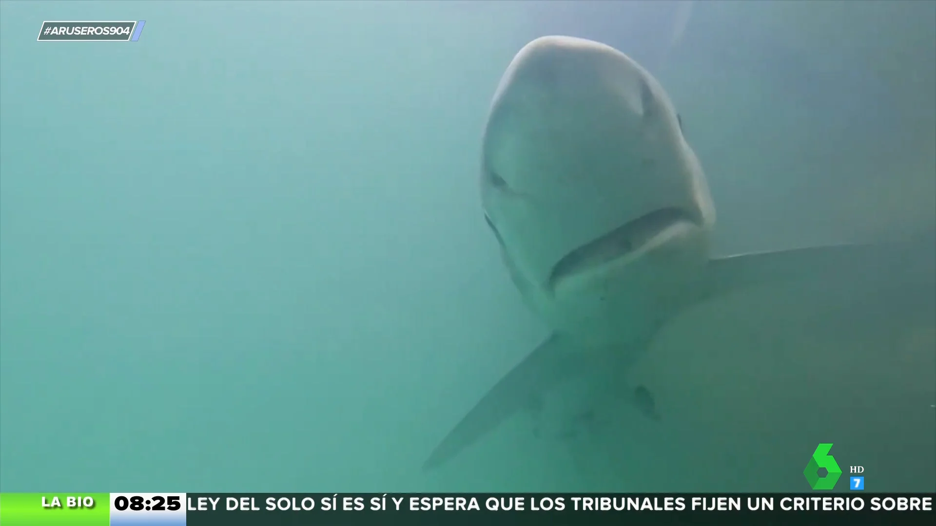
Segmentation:
[(695, 223), (695, 218), (678, 207), (661, 208), (641, 215), (563, 256), (552, 268), (548, 285), (555, 290), (564, 278), (632, 254), (668, 226), (681, 222)]

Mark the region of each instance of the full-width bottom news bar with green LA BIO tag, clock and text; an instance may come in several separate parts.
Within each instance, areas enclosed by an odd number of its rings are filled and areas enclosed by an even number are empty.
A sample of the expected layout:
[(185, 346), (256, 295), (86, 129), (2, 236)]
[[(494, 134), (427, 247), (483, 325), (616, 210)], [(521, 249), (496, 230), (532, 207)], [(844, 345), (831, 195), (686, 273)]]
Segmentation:
[[(933, 493), (0, 493), (3, 526), (215, 524), (663, 524), (770, 516), (842, 524), (936, 524)], [(483, 521), (483, 522), (481, 522)]]

